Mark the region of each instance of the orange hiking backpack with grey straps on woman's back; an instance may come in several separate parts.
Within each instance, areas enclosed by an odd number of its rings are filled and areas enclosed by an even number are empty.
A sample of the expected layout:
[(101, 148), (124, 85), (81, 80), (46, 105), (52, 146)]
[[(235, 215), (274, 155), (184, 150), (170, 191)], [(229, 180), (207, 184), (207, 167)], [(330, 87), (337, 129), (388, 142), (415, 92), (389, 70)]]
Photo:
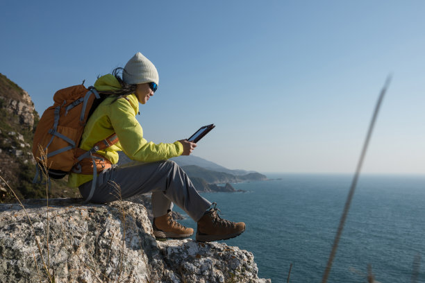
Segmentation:
[[(89, 114), (99, 105), (101, 97), (94, 87), (74, 85), (58, 90), (53, 101), (53, 106), (44, 111), (35, 129), (33, 155), (37, 173), (33, 182), (38, 182), (38, 178), (41, 182), (41, 169), (48, 171), (49, 177), (54, 179), (63, 178), (70, 172), (93, 173), (95, 183), (97, 173), (112, 166), (96, 152), (118, 141), (117, 135), (113, 134), (99, 141), (90, 151), (78, 148)], [(40, 153), (40, 147), (44, 154)], [(44, 168), (44, 162), (47, 168)]]

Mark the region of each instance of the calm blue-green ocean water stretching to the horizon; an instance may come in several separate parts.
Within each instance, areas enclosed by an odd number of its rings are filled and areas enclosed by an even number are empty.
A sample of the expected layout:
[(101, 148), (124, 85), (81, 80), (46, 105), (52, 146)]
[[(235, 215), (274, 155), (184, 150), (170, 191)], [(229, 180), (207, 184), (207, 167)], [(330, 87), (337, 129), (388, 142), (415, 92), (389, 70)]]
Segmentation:
[[(259, 277), (287, 282), (293, 264), (290, 282), (321, 282), (353, 176), (267, 177), (234, 184), (245, 193), (202, 194), (247, 224), (222, 242), (253, 252)], [(377, 282), (425, 282), (425, 176), (360, 176), (328, 282), (367, 282), (369, 264)]]

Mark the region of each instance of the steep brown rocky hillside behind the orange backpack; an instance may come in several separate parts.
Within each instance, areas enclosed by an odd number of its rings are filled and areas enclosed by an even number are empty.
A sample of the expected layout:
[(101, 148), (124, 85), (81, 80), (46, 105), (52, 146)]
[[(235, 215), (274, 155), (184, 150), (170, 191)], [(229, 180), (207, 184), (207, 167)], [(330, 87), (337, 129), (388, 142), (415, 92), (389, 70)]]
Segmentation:
[[(0, 74), (0, 175), (22, 198), (45, 196), (44, 186), (32, 184), (35, 160), (31, 148), (38, 120), (28, 93)], [(52, 184), (53, 196), (78, 196), (77, 191), (65, 187), (65, 180)], [(0, 180), (0, 202), (8, 200), (6, 184)]]

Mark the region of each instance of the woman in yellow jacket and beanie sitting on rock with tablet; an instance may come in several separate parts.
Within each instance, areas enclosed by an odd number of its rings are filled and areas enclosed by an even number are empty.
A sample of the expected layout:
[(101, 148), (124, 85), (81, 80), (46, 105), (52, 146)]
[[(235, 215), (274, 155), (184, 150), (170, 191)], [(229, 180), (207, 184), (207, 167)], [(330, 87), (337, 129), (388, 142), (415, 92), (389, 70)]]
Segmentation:
[[(122, 71), (122, 78), (119, 76)], [(188, 175), (171, 157), (190, 155), (196, 144), (181, 139), (173, 144), (153, 144), (143, 137), (140, 123), (135, 119), (139, 104), (146, 104), (158, 87), (158, 71), (142, 53), (136, 53), (124, 69), (98, 78), (95, 89), (106, 97), (91, 114), (81, 137), (80, 148), (90, 151), (98, 141), (117, 135), (117, 144), (97, 151), (112, 164), (117, 164), (117, 151), (124, 151), (132, 160), (129, 166), (118, 166), (102, 171), (97, 180), (93, 175), (72, 173), (68, 185), (79, 187), (86, 200), (108, 203), (152, 192), (153, 234), (159, 238), (184, 238), (193, 234), (192, 228), (176, 223), (171, 214), (173, 203), (181, 207), (197, 222), (197, 241), (217, 241), (236, 237), (245, 224), (220, 218), (217, 209), (199, 196)], [(116, 183), (119, 185), (117, 191)]]

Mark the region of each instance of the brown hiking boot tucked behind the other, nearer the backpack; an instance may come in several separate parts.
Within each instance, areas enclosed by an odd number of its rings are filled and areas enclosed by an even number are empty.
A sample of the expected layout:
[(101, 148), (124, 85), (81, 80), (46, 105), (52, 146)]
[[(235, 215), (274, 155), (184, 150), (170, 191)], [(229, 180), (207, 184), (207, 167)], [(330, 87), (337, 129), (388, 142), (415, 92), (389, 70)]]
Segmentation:
[(152, 226), (155, 237), (162, 239), (187, 238), (193, 234), (192, 228), (187, 228), (174, 221), (171, 210), (168, 210), (168, 213), (163, 216), (153, 218)]

